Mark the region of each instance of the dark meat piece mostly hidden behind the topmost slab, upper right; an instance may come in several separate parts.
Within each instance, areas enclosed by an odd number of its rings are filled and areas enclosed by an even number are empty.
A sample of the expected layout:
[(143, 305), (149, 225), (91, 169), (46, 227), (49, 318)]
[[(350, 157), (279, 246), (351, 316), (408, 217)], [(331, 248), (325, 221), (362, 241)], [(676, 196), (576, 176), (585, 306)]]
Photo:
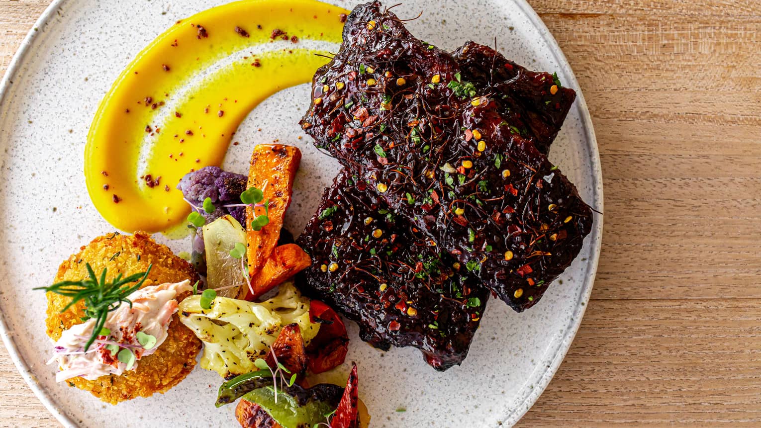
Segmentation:
[(562, 87), (555, 75), (527, 70), (489, 46), (468, 42), (452, 55), (460, 65), (460, 80), (472, 83), (476, 94), (493, 94), (502, 118), (530, 138), (538, 151), (549, 154), (576, 92)]

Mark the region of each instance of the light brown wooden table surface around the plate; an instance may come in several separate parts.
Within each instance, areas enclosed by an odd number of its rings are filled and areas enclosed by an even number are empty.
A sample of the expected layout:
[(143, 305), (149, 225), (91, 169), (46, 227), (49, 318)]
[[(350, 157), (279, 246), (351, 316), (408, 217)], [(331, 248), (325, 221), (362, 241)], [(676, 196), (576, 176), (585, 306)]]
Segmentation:
[[(761, 426), (761, 2), (530, 3), (589, 104), (605, 232), (519, 426)], [(0, 72), (47, 4), (0, 0)], [(0, 426), (58, 426), (5, 348), (0, 388)]]

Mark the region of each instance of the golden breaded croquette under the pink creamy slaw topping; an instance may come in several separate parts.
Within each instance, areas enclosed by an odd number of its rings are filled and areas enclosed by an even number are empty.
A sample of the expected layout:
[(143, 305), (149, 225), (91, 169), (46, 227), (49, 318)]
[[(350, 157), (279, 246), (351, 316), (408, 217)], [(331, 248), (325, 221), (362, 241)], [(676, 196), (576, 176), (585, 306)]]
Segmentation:
[[(145, 272), (148, 266), (152, 265), (148, 279), (142, 287), (185, 280), (194, 284), (198, 280), (196, 271), (188, 262), (174, 255), (167, 246), (155, 243), (145, 232), (138, 232), (133, 236), (111, 233), (93, 239), (90, 244), (81, 247), (80, 252), (61, 264), (53, 282), (79, 281), (88, 277), (85, 263), (89, 263), (98, 274), (103, 268), (107, 268), (108, 278), (119, 273), (126, 277)], [(57, 341), (65, 329), (81, 322), (81, 317), (84, 316), (84, 302), (80, 301), (65, 312), (60, 312), (71, 298), (52, 292), (46, 295), (47, 334)], [(186, 296), (189, 296), (189, 293), (178, 296), (177, 301)], [(201, 350), (201, 341), (189, 328), (180, 323), (177, 314), (172, 315), (167, 334), (166, 341), (156, 352), (142, 357), (134, 371), (127, 371), (122, 376), (100, 376), (95, 380), (75, 377), (68, 379), (66, 383), (89, 391), (110, 404), (118, 404), (135, 397), (149, 397), (155, 392), (167, 392), (193, 370), (196, 366), (196, 356)]]

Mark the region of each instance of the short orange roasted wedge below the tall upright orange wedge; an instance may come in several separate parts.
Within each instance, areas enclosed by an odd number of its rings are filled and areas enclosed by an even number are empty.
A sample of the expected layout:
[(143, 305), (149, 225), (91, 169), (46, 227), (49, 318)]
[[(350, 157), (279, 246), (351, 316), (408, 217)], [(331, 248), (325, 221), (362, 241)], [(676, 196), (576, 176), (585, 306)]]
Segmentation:
[(312, 259), (300, 246), (296, 244), (277, 246), (260, 271), (251, 277), (251, 288), (254, 294), (251, 294), (248, 287), (240, 287), (238, 299), (256, 299), (311, 264)]

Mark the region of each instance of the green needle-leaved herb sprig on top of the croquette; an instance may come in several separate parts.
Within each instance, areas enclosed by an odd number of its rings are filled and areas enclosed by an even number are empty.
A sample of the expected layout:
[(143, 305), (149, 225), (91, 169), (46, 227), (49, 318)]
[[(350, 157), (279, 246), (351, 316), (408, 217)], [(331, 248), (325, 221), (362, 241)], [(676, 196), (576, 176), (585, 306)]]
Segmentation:
[[(106, 324), (108, 312), (119, 308), (122, 303), (128, 303), (129, 307), (132, 308), (132, 301), (127, 299), (127, 296), (139, 290), (145, 279), (148, 278), (148, 273), (153, 265), (148, 265), (148, 271), (132, 274), (129, 277), (122, 277), (122, 274), (118, 274), (110, 282), (106, 281), (107, 268), (103, 268), (103, 271), (100, 272), (100, 278), (98, 278), (95, 276), (95, 272), (89, 263), (85, 264), (85, 266), (87, 266), (90, 276), (86, 279), (81, 281), (61, 281), (49, 287), (37, 287), (34, 290), (52, 291), (62, 296), (71, 297), (72, 301), (61, 309), (61, 312), (65, 312), (66, 309), (72, 307), (75, 303), (84, 300), (84, 317), (82, 321), (84, 322), (88, 319), (96, 320), (92, 336), (88, 339), (87, 344), (84, 345), (84, 351), (87, 352), (90, 345), (100, 335), (103, 325)], [(132, 282), (137, 282), (137, 284), (132, 286), (127, 285)]]

